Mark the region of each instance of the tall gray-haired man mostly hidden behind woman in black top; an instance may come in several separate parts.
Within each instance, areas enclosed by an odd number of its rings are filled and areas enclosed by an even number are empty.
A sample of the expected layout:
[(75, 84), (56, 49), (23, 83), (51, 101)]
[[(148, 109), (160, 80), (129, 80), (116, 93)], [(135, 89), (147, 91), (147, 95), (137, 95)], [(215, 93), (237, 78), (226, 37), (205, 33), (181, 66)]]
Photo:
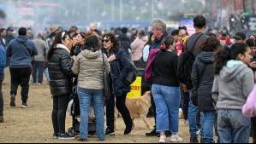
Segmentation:
[[(168, 33), (166, 31), (166, 23), (164, 20), (161, 20), (161, 19), (153, 20), (151, 26), (152, 26), (153, 36), (155, 36), (155, 40), (152, 42), (152, 45), (149, 48), (149, 53), (152, 49), (160, 49), (162, 40), (164, 39), (164, 37), (168, 36)], [(150, 82), (149, 84), (150, 84), (150, 88), (152, 89), (152, 82)], [(157, 112), (156, 112), (155, 101), (152, 95), (151, 95), (151, 103), (152, 103), (152, 109), (154, 112), (155, 124), (156, 124)], [(167, 133), (166, 135), (168, 135)], [(156, 136), (156, 135), (158, 135), (156, 131), (156, 126), (155, 126), (155, 129), (152, 130), (150, 133), (146, 133), (146, 136)]]

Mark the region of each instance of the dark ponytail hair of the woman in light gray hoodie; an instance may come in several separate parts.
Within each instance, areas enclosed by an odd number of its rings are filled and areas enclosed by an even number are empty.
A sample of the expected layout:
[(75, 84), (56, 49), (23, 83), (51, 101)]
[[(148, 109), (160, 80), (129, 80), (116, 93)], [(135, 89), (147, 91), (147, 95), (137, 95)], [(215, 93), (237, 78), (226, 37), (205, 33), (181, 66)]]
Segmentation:
[(218, 49), (217, 53), (213, 56), (214, 73), (218, 75), (229, 60), (236, 60), (237, 55), (244, 55), (247, 49), (249, 49), (249, 47), (245, 43), (235, 43), (232, 47)]

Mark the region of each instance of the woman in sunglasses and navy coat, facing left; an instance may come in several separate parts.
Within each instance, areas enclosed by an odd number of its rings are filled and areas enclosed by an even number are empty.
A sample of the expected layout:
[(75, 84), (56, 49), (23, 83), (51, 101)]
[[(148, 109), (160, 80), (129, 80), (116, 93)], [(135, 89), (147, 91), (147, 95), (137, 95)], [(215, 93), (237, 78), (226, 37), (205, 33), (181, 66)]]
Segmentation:
[[(126, 125), (124, 135), (128, 135), (134, 128), (133, 120), (130, 112), (125, 105), (126, 96), (131, 90), (131, 86), (124, 82), (128, 72), (131, 70), (127, 55), (124, 50), (120, 49), (118, 39), (113, 33), (106, 33), (103, 36), (104, 54), (108, 56), (110, 62), (110, 73), (112, 84), (112, 93), (110, 99), (106, 100), (106, 118), (107, 129), (105, 135), (115, 135), (114, 128), (114, 109), (115, 109), (115, 96), (116, 108), (122, 114), (122, 119)], [(115, 96), (114, 96), (115, 95)]]

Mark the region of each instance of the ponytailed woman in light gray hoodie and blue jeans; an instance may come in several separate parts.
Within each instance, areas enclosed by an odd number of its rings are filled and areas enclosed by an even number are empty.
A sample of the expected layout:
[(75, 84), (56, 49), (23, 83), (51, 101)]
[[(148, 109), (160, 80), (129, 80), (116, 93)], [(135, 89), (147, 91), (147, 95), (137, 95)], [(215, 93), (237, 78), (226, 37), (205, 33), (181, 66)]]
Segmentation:
[(215, 78), (212, 99), (217, 109), (217, 133), (220, 143), (247, 143), (251, 119), (241, 113), (253, 90), (251, 49), (244, 43), (219, 49), (214, 55)]

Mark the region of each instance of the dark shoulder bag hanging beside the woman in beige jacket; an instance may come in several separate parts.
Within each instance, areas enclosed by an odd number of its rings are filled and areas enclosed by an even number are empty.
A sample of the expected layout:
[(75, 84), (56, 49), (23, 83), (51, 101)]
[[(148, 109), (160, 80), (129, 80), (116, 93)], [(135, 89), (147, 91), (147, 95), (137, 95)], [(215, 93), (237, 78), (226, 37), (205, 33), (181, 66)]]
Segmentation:
[(104, 98), (105, 100), (110, 98), (110, 75), (106, 72), (105, 68), (105, 60), (104, 60), (104, 53), (102, 53), (103, 58), (103, 85), (104, 85)]

